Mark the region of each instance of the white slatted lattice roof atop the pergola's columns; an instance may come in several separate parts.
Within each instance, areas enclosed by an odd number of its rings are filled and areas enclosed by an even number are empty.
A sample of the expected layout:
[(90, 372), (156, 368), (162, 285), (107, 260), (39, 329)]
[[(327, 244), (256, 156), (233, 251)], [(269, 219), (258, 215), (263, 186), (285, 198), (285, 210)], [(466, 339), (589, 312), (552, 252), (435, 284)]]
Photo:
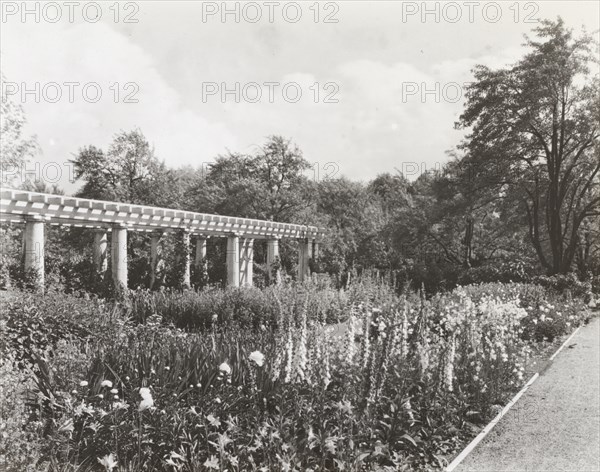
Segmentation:
[(106, 229), (124, 225), (133, 231), (188, 230), (206, 236), (236, 233), (258, 239), (320, 239), (324, 234), (324, 230), (316, 226), (2, 189), (0, 222), (23, 222), (34, 216), (53, 225)]

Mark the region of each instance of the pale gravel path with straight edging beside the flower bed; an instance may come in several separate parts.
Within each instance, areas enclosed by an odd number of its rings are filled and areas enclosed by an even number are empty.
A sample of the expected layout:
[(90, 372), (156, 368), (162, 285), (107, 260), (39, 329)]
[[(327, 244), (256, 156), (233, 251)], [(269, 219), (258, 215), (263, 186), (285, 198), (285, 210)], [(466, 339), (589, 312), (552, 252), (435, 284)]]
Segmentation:
[(600, 471), (600, 319), (577, 332), (455, 471)]

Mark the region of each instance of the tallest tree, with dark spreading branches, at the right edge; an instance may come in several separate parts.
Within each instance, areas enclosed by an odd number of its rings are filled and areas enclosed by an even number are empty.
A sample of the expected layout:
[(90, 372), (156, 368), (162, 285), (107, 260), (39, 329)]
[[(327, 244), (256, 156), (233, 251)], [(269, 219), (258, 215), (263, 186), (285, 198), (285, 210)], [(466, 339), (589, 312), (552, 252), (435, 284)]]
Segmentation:
[(580, 228), (600, 209), (600, 88), (590, 37), (574, 37), (561, 19), (535, 32), (515, 65), (476, 67), (458, 126), (471, 127), (468, 172), (519, 197), (537, 257), (556, 274), (570, 270)]

